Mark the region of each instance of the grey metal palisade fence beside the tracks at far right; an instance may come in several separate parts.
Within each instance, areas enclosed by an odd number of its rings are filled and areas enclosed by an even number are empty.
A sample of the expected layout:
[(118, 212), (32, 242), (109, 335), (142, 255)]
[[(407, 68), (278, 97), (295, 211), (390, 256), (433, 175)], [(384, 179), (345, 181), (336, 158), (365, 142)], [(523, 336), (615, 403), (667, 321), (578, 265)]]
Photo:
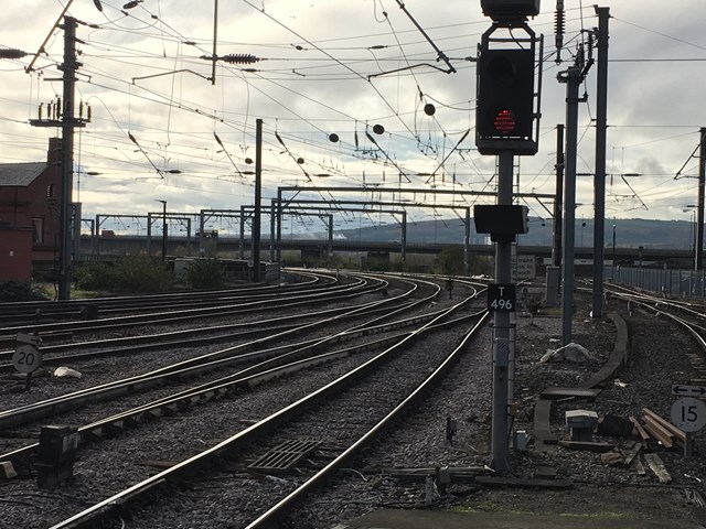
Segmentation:
[(606, 267), (605, 279), (613, 283), (678, 298), (706, 298), (706, 271), (662, 268)]

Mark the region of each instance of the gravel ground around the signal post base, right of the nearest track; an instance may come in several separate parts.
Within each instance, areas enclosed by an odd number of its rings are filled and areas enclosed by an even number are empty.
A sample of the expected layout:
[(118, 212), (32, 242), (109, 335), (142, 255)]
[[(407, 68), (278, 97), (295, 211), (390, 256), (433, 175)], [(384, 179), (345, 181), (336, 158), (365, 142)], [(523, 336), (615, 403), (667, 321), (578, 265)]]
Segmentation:
[[(517, 321), (516, 395), (523, 404), (516, 429), (532, 431), (531, 398), (538, 391), (556, 386), (577, 386), (609, 356), (616, 332), (608, 319), (588, 316), (590, 300), (577, 300), (573, 323), (574, 342), (585, 346), (596, 358), (586, 365), (561, 361), (539, 363), (547, 349), (558, 347), (560, 320), (556, 317), (520, 317)], [(628, 321), (632, 336), (630, 361), (614, 380), (608, 380), (595, 402), (576, 401), (553, 407), (552, 428), (565, 439), (564, 413), (570, 409), (588, 409), (599, 418), (613, 413), (627, 418), (640, 417), (650, 408), (668, 420), (674, 400), (673, 382), (706, 378), (694, 370), (687, 353), (696, 346), (672, 323), (652, 314), (628, 314), (616, 303), (611, 311)], [(570, 490), (554, 492), (533, 488), (483, 488), (474, 484), (456, 483), (448, 494), (426, 503), (425, 482), (403, 482), (382, 472), (389, 467), (475, 466), (488, 463), (490, 453), (490, 332), (484, 353), (468, 355), (453, 375), (425, 402), (424, 410), (408, 418), (376, 446), (352, 465), (353, 471), (339, 473), (325, 490), (311, 498), (289, 517), (288, 527), (329, 529), (379, 508), (420, 508), (483, 511), (526, 511), (542, 514), (612, 514), (641, 519), (692, 520), (693, 493), (706, 496), (706, 441), (697, 436), (695, 454), (685, 460), (681, 449), (659, 446), (654, 453), (662, 458), (672, 482), (662, 485), (646, 469), (644, 475), (630, 467), (610, 466), (600, 454), (557, 447), (552, 452), (515, 452), (511, 450), (512, 473), (531, 478), (541, 467), (553, 467), (557, 478), (573, 482)], [(482, 367), (481, 367), (482, 366)], [(480, 376), (471, 374), (478, 371)], [(453, 442), (446, 440), (446, 417), (458, 421)], [(634, 439), (601, 438), (595, 441), (630, 446)], [(644, 453), (644, 451), (643, 451)], [(642, 456), (640, 456), (642, 460)], [(644, 462), (644, 460), (642, 460)], [(646, 465), (645, 465), (646, 466)], [(698, 498), (698, 496), (697, 496)], [(696, 500), (698, 505), (698, 500)]]

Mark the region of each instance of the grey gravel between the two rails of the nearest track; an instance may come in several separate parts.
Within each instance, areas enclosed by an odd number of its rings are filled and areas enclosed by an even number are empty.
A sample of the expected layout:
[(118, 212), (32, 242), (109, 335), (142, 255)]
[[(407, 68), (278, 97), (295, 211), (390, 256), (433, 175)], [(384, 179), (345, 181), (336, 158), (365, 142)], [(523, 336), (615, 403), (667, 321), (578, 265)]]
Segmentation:
[[(296, 422), (278, 429), (266, 442), (258, 442), (253, 453), (261, 455), (284, 441), (313, 438), (323, 443), (323, 452), (338, 455), (340, 450), (354, 443), (395, 408), (410, 388), (436, 369), (463, 334), (464, 328), (457, 326), (440, 335), (420, 338), (403, 355), (377, 367), (362, 384), (356, 384), (341, 397), (332, 398), (315, 410), (306, 412)], [(324, 461), (328, 462), (328, 458)], [(252, 475), (243, 483), (244, 468), (237, 469), (239, 473), (222, 472), (217, 487), (213, 478), (205, 484), (194, 481), (179, 496), (164, 498), (159, 507), (136, 516), (130, 527), (147, 529), (164, 521), (165, 527), (199, 527), (205, 519), (210, 527), (244, 527), (311, 474), (300, 467), (299, 472), (285, 476), (268, 478)], [(205, 496), (208, 497), (207, 501), (203, 500)], [(234, 508), (223, 507), (214, 512), (214, 505), (231, 505)]]

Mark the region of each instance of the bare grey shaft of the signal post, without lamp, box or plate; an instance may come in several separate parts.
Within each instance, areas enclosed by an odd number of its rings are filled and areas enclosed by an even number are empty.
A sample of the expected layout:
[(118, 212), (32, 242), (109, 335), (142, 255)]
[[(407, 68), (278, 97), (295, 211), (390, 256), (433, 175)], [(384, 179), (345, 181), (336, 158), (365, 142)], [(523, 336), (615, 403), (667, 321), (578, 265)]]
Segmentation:
[[(503, 151), (498, 155), (498, 205), (512, 204), (513, 154)], [(495, 244), (495, 281), (512, 282), (512, 239)], [(493, 410), (491, 425), (491, 463), (498, 472), (510, 471), (507, 457), (507, 397), (510, 366), (510, 313), (495, 312), (493, 339)]]

